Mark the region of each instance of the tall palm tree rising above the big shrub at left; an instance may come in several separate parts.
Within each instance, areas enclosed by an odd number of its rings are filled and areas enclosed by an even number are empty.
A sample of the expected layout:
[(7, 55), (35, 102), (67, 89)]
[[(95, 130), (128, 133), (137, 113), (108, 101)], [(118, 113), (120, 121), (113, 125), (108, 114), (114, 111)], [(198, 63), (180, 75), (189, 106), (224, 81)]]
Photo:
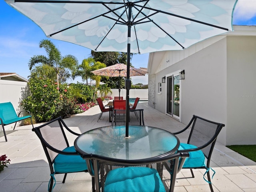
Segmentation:
[[(28, 67), (30, 70), (32, 70), (32, 68), (36, 64), (40, 63), (41, 66), (48, 65), (51, 68), (54, 68), (56, 72), (57, 85), (59, 88), (60, 70), (63, 72), (63, 70), (65, 71), (65, 69), (69, 69), (72, 72), (72, 75), (74, 75), (74, 72), (76, 71), (76, 68), (78, 66), (78, 60), (75, 56), (72, 55), (66, 55), (64, 57), (61, 56), (60, 50), (58, 50), (58, 48), (56, 48), (56, 46), (50, 40), (41, 40), (39, 43), (39, 47), (46, 50), (48, 57), (44, 55), (34, 55), (32, 58), (30, 58)], [(41, 70), (41, 72), (43, 73), (44, 71)], [(47, 76), (47, 74), (44, 75)]]

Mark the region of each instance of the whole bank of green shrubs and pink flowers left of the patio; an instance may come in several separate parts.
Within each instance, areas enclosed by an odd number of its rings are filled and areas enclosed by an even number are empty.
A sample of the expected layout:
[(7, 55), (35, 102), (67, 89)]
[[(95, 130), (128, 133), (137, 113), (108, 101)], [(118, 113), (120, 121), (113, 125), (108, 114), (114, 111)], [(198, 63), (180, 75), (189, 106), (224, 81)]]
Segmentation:
[[(22, 105), (29, 110), (36, 122), (47, 122), (59, 116), (62, 118), (70, 117), (78, 112), (84, 112), (88, 109), (78, 102), (78, 100), (88, 101), (87, 106), (94, 106), (91, 102), (93, 92), (90, 88), (82, 84), (72, 85), (68, 88), (67, 84), (60, 84), (50, 79), (30, 78), (28, 82), (30, 94), (24, 99)], [(74, 96), (73, 92), (80, 86), (80, 97)], [(88, 100), (86, 100), (88, 99)], [(80, 110), (81, 109), (81, 110)]]

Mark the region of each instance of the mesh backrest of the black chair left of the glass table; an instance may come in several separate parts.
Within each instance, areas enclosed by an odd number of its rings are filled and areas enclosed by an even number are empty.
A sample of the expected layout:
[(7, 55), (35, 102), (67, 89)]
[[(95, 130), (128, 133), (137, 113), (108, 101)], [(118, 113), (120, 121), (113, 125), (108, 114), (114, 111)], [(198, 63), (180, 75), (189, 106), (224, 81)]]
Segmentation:
[[(66, 130), (64, 130), (64, 128), (66, 128)], [(32, 131), (34, 131), (40, 139), (50, 165), (52, 165), (54, 158), (59, 152), (69, 147), (66, 134), (70, 132), (72, 135), (79, 135), (70, 130), (61, 117), (35, 127)]]

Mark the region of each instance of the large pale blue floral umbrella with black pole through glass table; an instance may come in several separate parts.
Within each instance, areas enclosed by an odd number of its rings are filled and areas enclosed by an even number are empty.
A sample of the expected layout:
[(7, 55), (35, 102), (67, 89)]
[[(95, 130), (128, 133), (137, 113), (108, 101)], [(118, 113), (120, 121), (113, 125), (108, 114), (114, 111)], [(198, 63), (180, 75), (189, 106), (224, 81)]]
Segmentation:
[[(130, 53), (182, 50), (233, 30), (237, 0), (5, 0), (31, 18), (49, 38), (94, 51)], [(128, 136), (129, 103), (126, 103)]]

